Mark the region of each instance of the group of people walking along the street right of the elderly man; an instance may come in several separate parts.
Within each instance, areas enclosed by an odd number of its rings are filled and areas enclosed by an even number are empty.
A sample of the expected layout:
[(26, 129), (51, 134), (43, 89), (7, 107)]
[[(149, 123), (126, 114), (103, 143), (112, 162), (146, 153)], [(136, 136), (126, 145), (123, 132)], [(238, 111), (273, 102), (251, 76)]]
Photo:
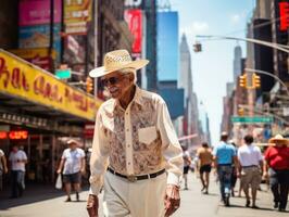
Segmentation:
[[(262, 153), (251, 135), (243, 138), (242, 145), (236, 146), (231, 140), (228, 141), (228, 133), (222, 132), (221, 141), (214, 148), (203, 143), (198, 149), (196, 163), (202, 184), (201, 191), (204, 194), (209, 193), (210, 173), (213, 167), (219, 182), (221, 201), (225, 206), (230, 205), (229, 199), (235, 196), (235, 186), (239, 178), (239, 196), (243, 191), (244, 206), (260, 208), (256, 194), (263, 179), (268, 180), (274, 208), (286, 210), (289, 191), (289, 140), (282, 136), (277, 135), (269, 139), (268, 148)], [(185, 189), (188, 189), (187, 180)]]

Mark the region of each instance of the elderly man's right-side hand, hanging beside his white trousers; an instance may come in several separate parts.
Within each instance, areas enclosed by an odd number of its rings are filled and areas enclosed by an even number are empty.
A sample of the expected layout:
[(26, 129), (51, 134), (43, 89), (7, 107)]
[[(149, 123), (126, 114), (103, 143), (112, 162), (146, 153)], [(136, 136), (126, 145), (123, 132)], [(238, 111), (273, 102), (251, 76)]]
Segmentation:
[(179, 187), (167, 184), (164, 199), (165, 217), (168, 217), (175, 213), (175, 210), (179, 207)]

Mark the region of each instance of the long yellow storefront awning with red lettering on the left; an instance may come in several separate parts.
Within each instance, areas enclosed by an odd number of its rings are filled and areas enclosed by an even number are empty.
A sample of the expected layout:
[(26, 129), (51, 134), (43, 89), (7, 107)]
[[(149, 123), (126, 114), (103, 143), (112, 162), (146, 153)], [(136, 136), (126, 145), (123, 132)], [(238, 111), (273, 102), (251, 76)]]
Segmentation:
[(2, 117), (13, 113), (67, 123), (93, 122), (100, 104), (101, 101), (93, 95), (0, 49)]

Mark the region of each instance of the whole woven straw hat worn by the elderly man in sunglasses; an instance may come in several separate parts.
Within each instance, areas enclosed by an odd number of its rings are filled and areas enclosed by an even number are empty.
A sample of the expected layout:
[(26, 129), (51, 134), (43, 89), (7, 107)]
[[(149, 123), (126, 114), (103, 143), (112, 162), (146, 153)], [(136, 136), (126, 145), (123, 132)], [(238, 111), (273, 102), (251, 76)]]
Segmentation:
[(115, 50), (106, 53), (103, 59), (103, 66), (90, 71), (89, 76), (95, 78), (101, 77), (124, 68), (139, 69), (148, 63), (148, 60), (133, 61), (127, 50)]

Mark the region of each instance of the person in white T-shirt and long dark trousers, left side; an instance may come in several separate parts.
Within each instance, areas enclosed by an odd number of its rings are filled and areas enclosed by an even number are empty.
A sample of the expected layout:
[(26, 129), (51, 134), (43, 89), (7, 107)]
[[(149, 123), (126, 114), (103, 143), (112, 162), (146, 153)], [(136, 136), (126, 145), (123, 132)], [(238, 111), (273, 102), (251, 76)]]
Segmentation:
[(16, 144), (13, 144), (9, 155), (9, 162), (11, 165), (11, 199), (16, 199), (23, 195), (25, 189), (25, 164), (27, 164), (27, 155)]

